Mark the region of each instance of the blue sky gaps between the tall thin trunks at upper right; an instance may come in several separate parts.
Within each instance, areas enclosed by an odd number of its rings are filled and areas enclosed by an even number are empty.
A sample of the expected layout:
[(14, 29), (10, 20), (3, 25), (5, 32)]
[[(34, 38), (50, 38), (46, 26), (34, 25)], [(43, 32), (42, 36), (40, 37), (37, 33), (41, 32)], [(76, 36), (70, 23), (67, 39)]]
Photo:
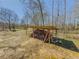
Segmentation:
[[(56, 0), (55, 1), (55, 5), (54, 7), (57, 7), (57, 2)], [(71, 14), (71, 11), (73, 10), (73, 5), (74, 5), (74, 0), (66, 0), (67, 1), (67, 13)], [(47, 8), (52, 11), (52, 0), (45, 0), (46, 4), (47, 4)], [(61, 3), (62, 2), (62, 3)], [(64, 3), (63, 3), (63, 0), (60, 1), (60, 12), (62, 12), (63, 10), (63, 6), (64, 6)], [(49, 11), (48, 10), (48, 11)], [(55, 9), (56, 10), (56, 9)]]

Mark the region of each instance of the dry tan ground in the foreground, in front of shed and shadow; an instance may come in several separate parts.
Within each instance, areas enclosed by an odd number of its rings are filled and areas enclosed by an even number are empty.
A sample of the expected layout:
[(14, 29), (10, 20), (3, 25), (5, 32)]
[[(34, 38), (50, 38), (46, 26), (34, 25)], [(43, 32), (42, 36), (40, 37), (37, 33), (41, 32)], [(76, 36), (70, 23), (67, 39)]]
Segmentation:
[(0, 32), (0, 59), (79, 59), (79, 53), (30, 38), (31, 31)]

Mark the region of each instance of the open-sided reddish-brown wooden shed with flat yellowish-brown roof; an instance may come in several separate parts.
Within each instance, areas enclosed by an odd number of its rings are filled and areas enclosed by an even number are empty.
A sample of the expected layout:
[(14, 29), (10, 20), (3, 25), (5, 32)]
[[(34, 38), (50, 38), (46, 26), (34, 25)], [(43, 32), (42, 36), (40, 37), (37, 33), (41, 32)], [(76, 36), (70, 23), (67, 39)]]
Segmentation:
[(44, 42), (50, 41), (51, 37), (53, 37), (53, 30), (58, 30), (54, 26), (28, 26), (29, 28), (33, 28), (34, 31), (31, 34), (31, 37), (43, 40)]

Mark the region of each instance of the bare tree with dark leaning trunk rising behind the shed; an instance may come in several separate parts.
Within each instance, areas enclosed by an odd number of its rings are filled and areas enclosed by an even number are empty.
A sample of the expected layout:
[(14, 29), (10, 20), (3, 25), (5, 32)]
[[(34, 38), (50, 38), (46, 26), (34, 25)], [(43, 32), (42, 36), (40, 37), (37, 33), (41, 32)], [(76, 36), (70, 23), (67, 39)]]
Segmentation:
[(29, 12), (32, 21), (37, 21), (34, 19), (36, 14), (40, 14), (40, 20), (42, 25), (44, 25), (44, 4), (43, 0), (23, 0), (25, 3), (25, 10)]

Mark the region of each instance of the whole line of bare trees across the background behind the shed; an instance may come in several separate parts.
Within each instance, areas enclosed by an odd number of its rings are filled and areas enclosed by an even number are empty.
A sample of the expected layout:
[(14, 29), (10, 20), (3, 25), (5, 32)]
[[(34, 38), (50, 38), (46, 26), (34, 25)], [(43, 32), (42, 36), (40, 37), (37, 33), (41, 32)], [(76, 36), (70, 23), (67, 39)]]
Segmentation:
[(26, 29), (29, 25), (55, 26), (63, 31), (79, 29), (78, 22), (72, 18), (72, 10), (68, 15), (67, 0), (50, 0), (51, 11), (46, 5), (46, 0), (20, 0), (19, 2), (24, 6), (22, 19), (19, 19), (14, 11), (0, 8), (2, 30)]

